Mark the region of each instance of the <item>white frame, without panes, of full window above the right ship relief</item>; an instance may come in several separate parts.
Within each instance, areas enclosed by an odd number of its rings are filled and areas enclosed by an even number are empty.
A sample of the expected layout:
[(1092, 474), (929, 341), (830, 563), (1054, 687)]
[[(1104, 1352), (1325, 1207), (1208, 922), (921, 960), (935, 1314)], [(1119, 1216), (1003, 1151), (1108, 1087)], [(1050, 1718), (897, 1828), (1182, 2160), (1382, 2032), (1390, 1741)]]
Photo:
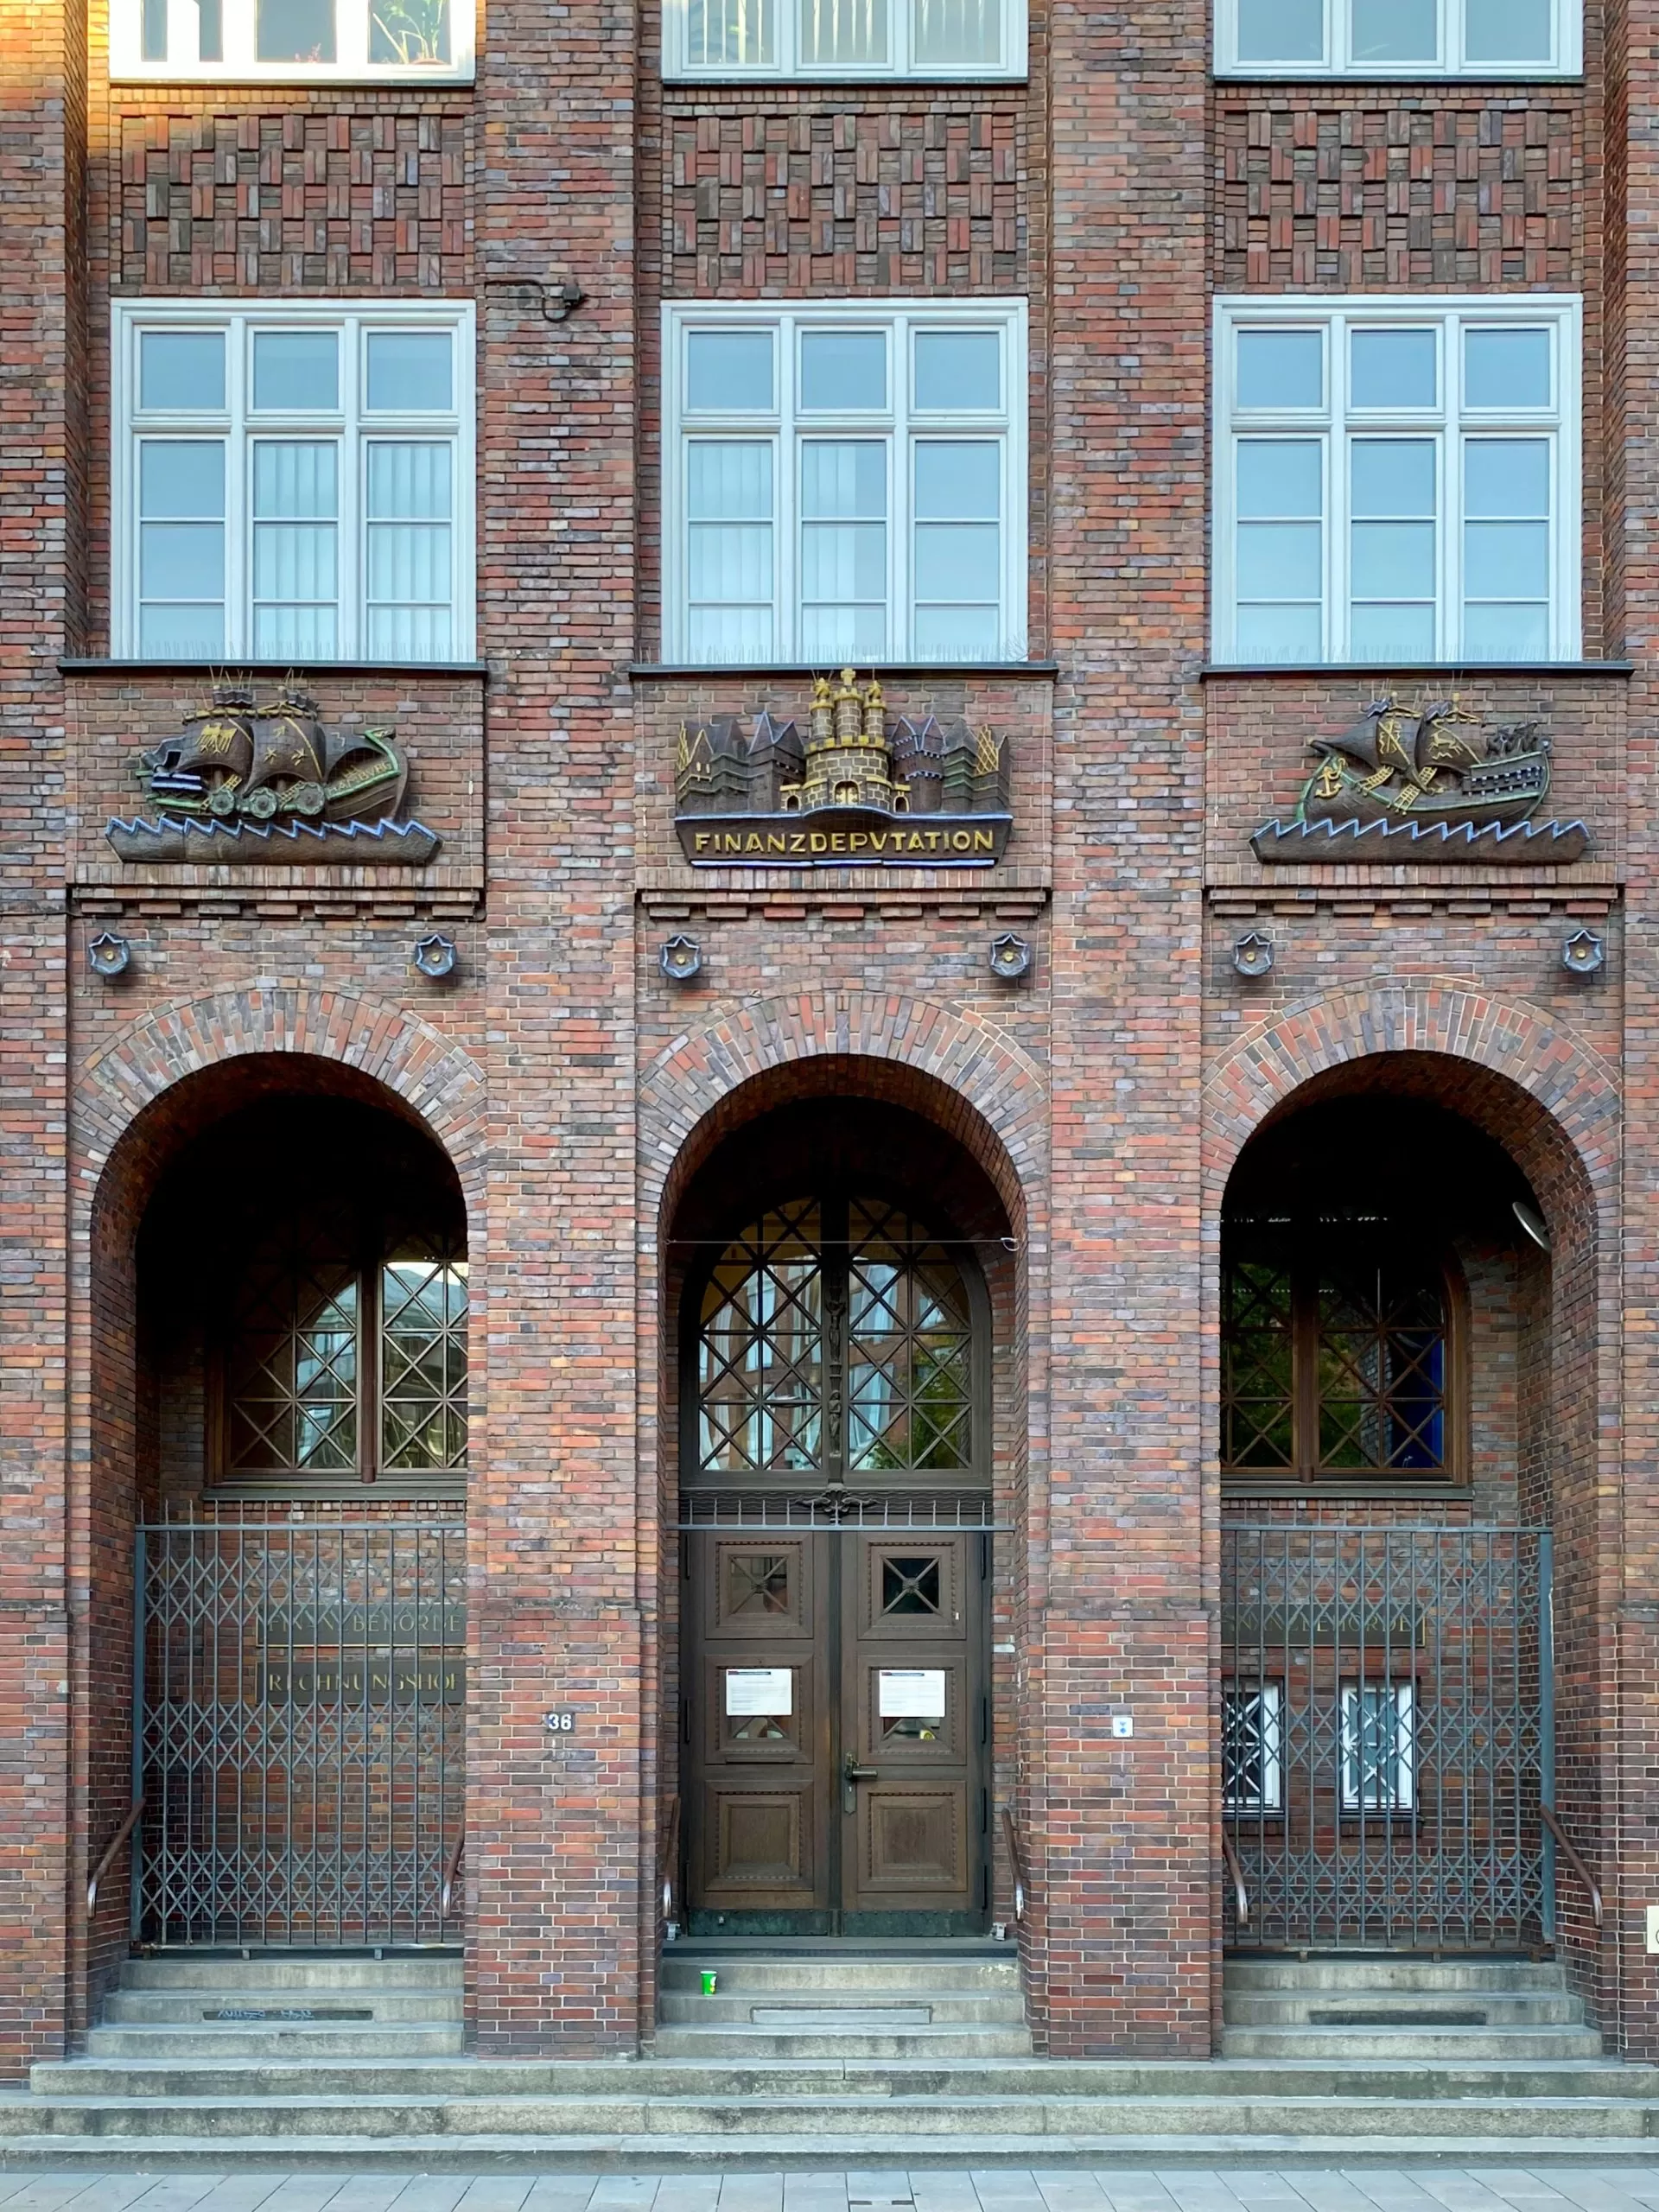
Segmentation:
[[(1440, 403), (1433, 409), (1354, 409), (1347, 407), (1347, 334), (1356, 325), (1416, 325), (1436, 327), (1440, 345)], [(1467, 325), (1486, 327), (1548, 327), (1553, 361), (1553, 405), (1546, 409), (1467, 409), (1455, 394), (1462, 378), (1462, 330)], [(1325, 332), (1325, 403), (1321, 409), (1261, 407), (1241, 409), (1237, 405), (1237, 352), (1239, 330), (1323, 330)], [(1349, 650), (1347, 611), (1347, 544), (1349, 544), (1349, 489), (1347, 489), (1347, 436), (1352, 431), (1378, 431), (1398, 436), (1433, 438), (1440, 460), (1440, 513), (1436, 540), (1436, 650), (1429, 661), (1471, 661), (1462, 650), (1462, 440), (1491, 434), (1493, 438), (1546, 438), (1551, 442), (1551, 602), (1548, 602), (1548, 650), (1544, 661), (1575, 661), (1582, 653), (1584, 626), (1584, 451), (1582, 451), (1582, 387), (1584, 387), (1584, 303), (1577, 292), (1522, 292), (1498, 294), (1447, 294), (1425, 292), (1402, 299), (1398, 294), (1232, 294), (1217, 299), (1212, 321), (1212, 599), (1210, 639), (1212, 659), (1221, 666), (1256, 666), (1256, 655), (1237, 650), (1237, 469), (1234, 447), (1243, 436), (1270, 438), (1316, 438), (1323, 449), (1325, 502), (1323, 502), (1323, 644), (1316, 659), (1285, 661), (1283, 666), (1343, 666), (1365, 661), (1365, 666), (1402, 664), (1402, 655), (1369, 661)], [(1528, 655), (1528, 664), (1540, 655)], [(1493, 661), (1486, 666), (1506, 666)]]

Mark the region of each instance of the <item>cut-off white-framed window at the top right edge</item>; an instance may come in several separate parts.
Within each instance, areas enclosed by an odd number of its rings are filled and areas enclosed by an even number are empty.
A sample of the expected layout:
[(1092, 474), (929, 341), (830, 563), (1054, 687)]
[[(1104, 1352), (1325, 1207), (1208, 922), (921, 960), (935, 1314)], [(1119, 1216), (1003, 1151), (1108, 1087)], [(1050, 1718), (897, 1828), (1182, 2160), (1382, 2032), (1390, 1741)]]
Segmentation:
[(1217, 0), (1219, 77), (1575, 77), (1582, 0)]

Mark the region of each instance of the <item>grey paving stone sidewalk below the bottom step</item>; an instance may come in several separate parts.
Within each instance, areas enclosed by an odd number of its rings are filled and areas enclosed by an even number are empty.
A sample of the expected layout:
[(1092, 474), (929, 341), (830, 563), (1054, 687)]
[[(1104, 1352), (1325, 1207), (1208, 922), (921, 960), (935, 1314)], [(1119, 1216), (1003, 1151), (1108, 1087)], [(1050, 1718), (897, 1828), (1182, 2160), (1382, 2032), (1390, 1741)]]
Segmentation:
[(0, 2174), (0, 2212), (1659, 2212), (1659, 2163), (821, 2174)]

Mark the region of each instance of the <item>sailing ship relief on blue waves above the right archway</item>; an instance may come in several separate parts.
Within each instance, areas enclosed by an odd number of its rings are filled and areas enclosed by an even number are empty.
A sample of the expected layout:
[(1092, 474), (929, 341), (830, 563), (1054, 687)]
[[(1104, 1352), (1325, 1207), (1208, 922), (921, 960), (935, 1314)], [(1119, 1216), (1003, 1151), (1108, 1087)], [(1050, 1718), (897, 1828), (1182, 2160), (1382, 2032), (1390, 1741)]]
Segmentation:
[(1259, 860), (1582, 860), (1582, 821), (1535, 821), (1551, 787), (1537, 721), (1491, 723), (1455, 699), (1374, 699), (1338, 737), (1310, 739), (1318, 768), (1294, 821), (1263, 823)]

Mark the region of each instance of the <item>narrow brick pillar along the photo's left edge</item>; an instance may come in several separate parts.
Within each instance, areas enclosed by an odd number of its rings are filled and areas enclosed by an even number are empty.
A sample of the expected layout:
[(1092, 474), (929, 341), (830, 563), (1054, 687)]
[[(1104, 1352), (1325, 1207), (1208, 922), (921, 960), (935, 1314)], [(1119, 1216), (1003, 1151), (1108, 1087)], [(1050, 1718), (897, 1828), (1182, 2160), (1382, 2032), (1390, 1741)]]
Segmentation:
[[(0, 20), (0, 2077), (62, 2051), (64, 706), (77, 611), (84, 40), (53, 0)], [(73, 646), (69, 646), (73, 650)]]

